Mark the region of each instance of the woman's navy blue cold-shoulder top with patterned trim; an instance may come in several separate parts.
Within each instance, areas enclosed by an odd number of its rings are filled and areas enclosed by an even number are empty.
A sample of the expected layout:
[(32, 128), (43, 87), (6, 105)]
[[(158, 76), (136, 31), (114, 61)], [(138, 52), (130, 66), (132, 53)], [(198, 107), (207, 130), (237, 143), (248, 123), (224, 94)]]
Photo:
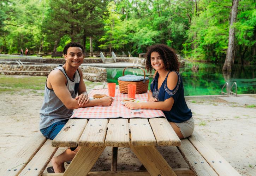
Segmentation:
[(161, 87), (158, 89), (158, 78), (159, 73), (156, 73), (150, 84), (150, 90), (153, 92), (153, 97), (158, 101), (165, 101), (168, 98), (173, 98), (174, 103), (171, 111), (163, 111), (168, 121), (181, 123), (189, 120), (192, 117), (191, 110), (187, 107), (182, 79), (180, 74), (175, 71), (178, 75), (178, 81), (173, 90), (168, 89), (167, 87), (167, 77), (171, 71), (168, 72), (165, 80), (163, 81)]

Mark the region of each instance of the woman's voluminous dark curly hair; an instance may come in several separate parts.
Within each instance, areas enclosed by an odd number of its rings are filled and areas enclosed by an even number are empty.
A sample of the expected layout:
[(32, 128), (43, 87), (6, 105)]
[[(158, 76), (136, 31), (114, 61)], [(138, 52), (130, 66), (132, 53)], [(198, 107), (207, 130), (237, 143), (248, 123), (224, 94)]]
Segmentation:
[(148, 52), (145, 56), (145, 68), (149, 73), (152, 73), (152, 65), (150, 62), (150, 57), (152, 52), (158, 52), (161, 56), (164, 67), (168, 71), (178, 71), (179, 72), (179, 61), (176, 52), (167, 45), (158, 44), (153, 45), (148, 48)]

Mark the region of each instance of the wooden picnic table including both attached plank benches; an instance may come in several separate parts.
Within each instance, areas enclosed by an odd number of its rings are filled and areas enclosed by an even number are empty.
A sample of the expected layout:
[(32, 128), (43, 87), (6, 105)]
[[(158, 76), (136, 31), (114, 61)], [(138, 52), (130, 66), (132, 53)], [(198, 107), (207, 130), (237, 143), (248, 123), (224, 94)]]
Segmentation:
[[(97, 86), (96, 88), (103, 88)], [(58, 147), (81, 146), (64, 173), (42, 174)], [(113, 147), (111, 171), (90, 172), (106, 146)], [(156, 146), (177, 146), (190, 168), (172, 169)], [(117, 171), (117, 148), (130, 147), (147, 171)], [(54, 140), (40, 132), (1, 167), (0, 175), (164, 176), (239, 175), (194, 131), (180, 140), (165, 118), (70, 119)]]

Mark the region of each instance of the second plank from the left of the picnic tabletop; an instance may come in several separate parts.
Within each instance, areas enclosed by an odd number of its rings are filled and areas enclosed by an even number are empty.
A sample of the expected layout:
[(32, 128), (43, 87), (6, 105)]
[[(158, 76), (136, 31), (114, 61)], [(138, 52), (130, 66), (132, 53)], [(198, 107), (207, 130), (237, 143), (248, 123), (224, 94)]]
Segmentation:
[(86, 125), (78, 146), (103, 147), (108, 119), (90, 119)]

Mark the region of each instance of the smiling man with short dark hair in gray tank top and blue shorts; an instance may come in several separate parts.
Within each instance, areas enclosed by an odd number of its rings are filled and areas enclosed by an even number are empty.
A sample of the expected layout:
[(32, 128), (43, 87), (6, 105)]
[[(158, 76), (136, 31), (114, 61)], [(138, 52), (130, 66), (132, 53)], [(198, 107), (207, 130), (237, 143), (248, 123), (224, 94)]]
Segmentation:
[[(40, 110), (40, 131), (48, 139), (54, 139), (73, 113), (73, 109), (92, 106), (110, 106), (111, 97), (89, 100), (83, 81), (82, 69), (84, 48), (71, 42), (63, 50), (66, 63), (53, 69), (44, 89), (44, 102)], [(78, 94), (78, 96), (77, 96)], [(79, 147), (67, 149), (52, 159), (56, 173), (64, 172), (64, 162), (75, 157)]]

